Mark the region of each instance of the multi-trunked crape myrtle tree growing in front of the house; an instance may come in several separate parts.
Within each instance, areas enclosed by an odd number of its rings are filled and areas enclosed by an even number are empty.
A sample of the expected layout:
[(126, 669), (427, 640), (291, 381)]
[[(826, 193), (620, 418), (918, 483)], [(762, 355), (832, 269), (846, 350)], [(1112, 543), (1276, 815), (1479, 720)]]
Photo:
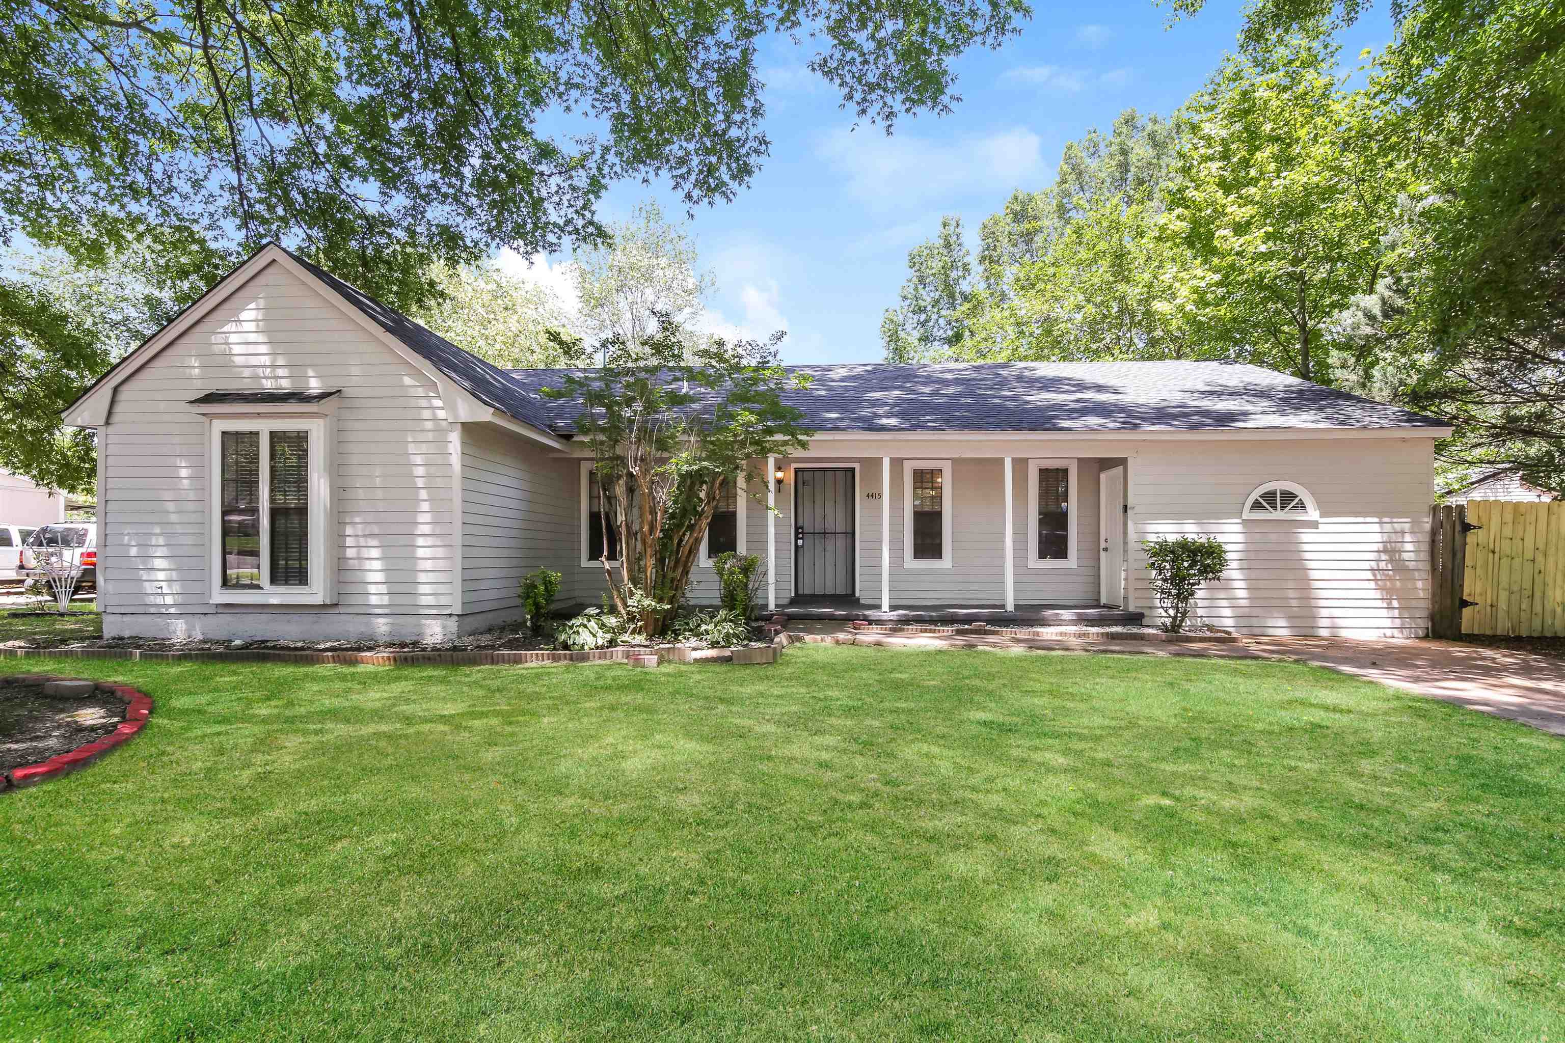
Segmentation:
[[(606, 525), (618, 536), (618, 565), (607, 539), (599, 558), (609, 599), (648, 638), (662, 635), (684, 597), (723, 483), (747, 475), (751, 460), (809, 444), (803, 413), (782, 402), (809, 377), (778, 364), (781, 339), (692, 347), (665, 321), (637, 346), (612, 338), (603, 367), (543, 391), (581, 407), (576, 435), (592, 449)], [(770, 482), (747, 477), (750, 488)]]

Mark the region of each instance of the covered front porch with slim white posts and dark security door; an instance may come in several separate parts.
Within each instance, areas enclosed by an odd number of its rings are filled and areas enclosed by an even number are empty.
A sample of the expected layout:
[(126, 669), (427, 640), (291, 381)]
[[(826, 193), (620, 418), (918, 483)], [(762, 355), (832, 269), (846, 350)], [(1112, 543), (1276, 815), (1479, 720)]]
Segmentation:
[(751, 533), (764, 538), (767, 610), (1141, 622), (1128, 569), (1133, 461), (1127, 441), (817, 435), (809, 452), (765, 461), (772, 510), (754, 511), (764, 532)]

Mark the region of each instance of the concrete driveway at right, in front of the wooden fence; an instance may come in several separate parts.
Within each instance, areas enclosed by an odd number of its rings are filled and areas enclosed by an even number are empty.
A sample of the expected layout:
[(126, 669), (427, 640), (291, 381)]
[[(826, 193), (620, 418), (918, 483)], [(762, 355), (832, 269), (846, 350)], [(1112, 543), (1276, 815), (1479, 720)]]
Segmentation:
[(1427, 638), (1246, 638), (1260, 655), (1304, 660), (1430, 699), (1565, 735), (1565, 660)]

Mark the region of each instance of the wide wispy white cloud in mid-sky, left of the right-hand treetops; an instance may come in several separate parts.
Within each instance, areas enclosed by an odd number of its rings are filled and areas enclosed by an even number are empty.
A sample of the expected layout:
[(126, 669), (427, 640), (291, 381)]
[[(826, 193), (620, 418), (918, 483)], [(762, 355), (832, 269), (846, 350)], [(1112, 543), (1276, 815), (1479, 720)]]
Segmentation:
[(837, 130), (815, 147), (844, 188), (872, 211), (919, 200), (1006, 191), (1044, 175), (1042, 141), (1025, 127), (936, 141)]

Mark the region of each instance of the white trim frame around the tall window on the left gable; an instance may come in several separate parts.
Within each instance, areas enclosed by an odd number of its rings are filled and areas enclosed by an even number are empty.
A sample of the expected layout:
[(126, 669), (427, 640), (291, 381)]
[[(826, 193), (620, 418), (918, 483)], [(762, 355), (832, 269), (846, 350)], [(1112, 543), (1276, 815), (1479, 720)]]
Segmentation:
[[(252, 410), (255, 407), (250, 407)], [(335, 424), (330, 416), (266, 416), (207, 421), (207, 543), (210, 550), (210, 585), (214, 605), (326, 605), (335, 600), (333, 582), (336, 555), (327, 557), (327, 532), (332, 516), (332, 463), (335, 453)], [(271, 460), (266, 444), (261, 447), (261, 590), (228, 590), (222, 585), (222, 433), (224, 432), (310, 432), (310, 585), (268, 586), (271, 579), (271, 524), (266, 519), (266, 491), (271, 480)], [(269, 444), (269, 443), (268, 443)], [(333, 539), (335, 546), (335, 539)], [(330, 569), (330, 571), (329, 571)]]

